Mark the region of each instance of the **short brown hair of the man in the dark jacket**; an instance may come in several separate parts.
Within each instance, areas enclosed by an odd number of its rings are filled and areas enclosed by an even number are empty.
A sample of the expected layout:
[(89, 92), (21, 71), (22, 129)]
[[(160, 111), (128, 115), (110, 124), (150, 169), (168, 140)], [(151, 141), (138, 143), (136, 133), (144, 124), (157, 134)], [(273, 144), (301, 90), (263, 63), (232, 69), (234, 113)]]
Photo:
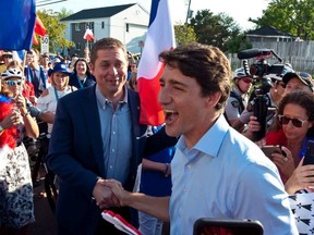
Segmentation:
[(116, 38), (102, 38), (100, 40), (97, 40), (96, 44), (94, 44), (92, 47), (90, 63), (95, 64), (95, 61), (97, 60), (98, 50), (106, 50), (106, 49), (113, 49), (113, 48), (121, 48), (125, 54), (125, 59), (128, 60), (126, 49), (120, 40)]

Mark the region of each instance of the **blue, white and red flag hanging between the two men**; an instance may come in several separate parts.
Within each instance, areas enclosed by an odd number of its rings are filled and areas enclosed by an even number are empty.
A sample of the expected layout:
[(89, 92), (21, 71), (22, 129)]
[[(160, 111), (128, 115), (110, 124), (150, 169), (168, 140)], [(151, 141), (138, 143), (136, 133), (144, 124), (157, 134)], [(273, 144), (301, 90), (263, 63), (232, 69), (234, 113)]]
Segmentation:
[(176, 47), (174, 27), (170, 14), (170, 0), (153, 0), (145, 47), (137, 70), (141, 97), (140, 122), (158, 126), (165, 122), (164, 111), (158, 103), (159, 78), (164, 65), (158, 55)]

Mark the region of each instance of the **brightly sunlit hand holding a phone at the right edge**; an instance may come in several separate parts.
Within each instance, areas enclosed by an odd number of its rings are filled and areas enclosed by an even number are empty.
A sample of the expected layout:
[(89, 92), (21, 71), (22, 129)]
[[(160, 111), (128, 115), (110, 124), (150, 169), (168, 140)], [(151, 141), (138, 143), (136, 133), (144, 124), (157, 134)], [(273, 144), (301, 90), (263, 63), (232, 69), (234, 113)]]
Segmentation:
[(289, 195), (301, 189), (314, 191), (314, 165), (303, 165), (303, 160), (304, 158), (301, 159), (291, 177), (285, 184), (285, 189)]

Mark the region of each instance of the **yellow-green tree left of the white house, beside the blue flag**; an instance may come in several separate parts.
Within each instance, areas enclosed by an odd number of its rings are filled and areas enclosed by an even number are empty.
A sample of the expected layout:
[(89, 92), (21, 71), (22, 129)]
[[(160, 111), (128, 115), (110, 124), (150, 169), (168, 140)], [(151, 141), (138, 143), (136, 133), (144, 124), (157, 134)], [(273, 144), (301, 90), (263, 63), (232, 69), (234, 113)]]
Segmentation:
[[(37, 11), (37, 14), (46, 27), (47, 35), (49, 35), (49, 50), (52, 53), (55, 53), (55, 50), (58, 48), (70, 48), (74, 45), (73, 41), (64, 38), (65, 24), (59, 22), (61, 17), (71, 13), (67, 13), (65, 9), (62, 10), (61, 12), (52, 12), (51, 10)], [(40, 49), (40, 45), (35, 46), (35, 48)]]

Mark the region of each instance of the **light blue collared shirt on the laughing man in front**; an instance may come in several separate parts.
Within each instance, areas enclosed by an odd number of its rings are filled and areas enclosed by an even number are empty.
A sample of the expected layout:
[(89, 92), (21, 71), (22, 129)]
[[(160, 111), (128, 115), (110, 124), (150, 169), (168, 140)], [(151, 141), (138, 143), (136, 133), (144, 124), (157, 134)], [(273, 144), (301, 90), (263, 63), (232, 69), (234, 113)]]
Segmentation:
[(224, 115), (192, 148), (180, 137), (171, 162), (171, 234), (198, 218), (258, 220), (265, 235), (298, 234), (276, 165)]

